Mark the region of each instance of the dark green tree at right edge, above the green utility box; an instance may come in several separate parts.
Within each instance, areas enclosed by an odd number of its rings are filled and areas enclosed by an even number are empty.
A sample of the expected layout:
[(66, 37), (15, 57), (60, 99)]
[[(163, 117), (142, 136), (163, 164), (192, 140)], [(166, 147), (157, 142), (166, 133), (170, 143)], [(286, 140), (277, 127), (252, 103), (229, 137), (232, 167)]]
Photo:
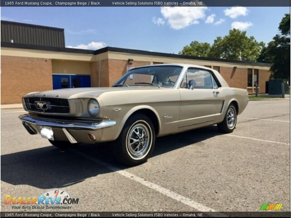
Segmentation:
[(277, 34), (268, 44), (268, 56), (272, 66), (271, 78), (290, 81), (290, 14), (285, 14), (279, 24), (281, 34)]

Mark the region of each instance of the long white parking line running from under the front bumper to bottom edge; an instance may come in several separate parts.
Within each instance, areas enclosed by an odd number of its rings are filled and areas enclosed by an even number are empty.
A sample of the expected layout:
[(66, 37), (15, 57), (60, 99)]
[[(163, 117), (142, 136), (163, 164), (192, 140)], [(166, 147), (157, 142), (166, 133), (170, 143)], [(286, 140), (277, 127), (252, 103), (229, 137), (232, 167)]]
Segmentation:
[[(175, 192), (173, 192), (173, 191), (171, 191), (169, 189), (166, 189), (166, 188), (164, 188), (162, 186), (159, 186), (159, 185), (157, 185), (155, 183), (146, 181), (143, 178), (135, 176), (134, 174), (129, 173), (129, 172), (125, 171), (125, 170), (121, 170), (121, 169), (119, 169), (117, 167), (114, 167), (114, 166), (108, 164), (108, 163), (105, 163), (105, 162), (103, 162), (101, 160), (98, 160), (98, 159), (96, 159), (96, 158), (94, 158), (94, 157), (92, 157), (92, 156), (90, 156), (88, 154), (85, 154), (85, 153), (83, 153), (83, 152), (81, 152), (79, 150), (72, 150), (72, 151), (74, 151), (76, 154), (81, 155), (82, 157), (85, 157), (85, 158), (87, 158), (89, 160), (92, 160), (95, 163), (98, 163), (99, 165), (102, 165), (103, 167), (108, 168), (109, 170), (112, 170), (115, 173), (119, 173), (120, 175), (122, 175), (124, 177), (127, 177), (127, 178), (129, 178), (131, 180), (134, 180), (135, 182), (138, 182), (138, 183), (140, 183), (140, 184), (142, 184), (142, 185), (144, 185), (144, 186), (146, 186), (148, 188), (156, 190), (157, 192), (162, 193), (163, 195), (166, 195), (166, 196), (168, 196), (168, 197), (170, 197), (170, 198), (172, 198), (172, 199), (174, 199), (176, 201), (179, 201), (179, 202), (181, 202), (183, 204), (186, 204), (187, 206), (192, 207), (195, 211), (203, 211), (203, 212), (214, 211), (214, 212), (216, 212), (216, 210), (213, 210), (213, 209), (211, 209), (211, 208), (209, 208), (207, 206), (204, 206), (204, 205), (202, 205), (200, 203), (197, 203), (197, 202), (195, 202), (195, 201), (193, 201), (193, 200), (191, 200), (191, 199), (189, 199), (187, 197), (184, 197), (184, 196), (182, 196), (180, 194), (177, 194), (177, 193), (175, 193)], [(218, 216), (225, 216), (224, 214), (220, 214), (220, 213), (217, 213), (217, 215)]]

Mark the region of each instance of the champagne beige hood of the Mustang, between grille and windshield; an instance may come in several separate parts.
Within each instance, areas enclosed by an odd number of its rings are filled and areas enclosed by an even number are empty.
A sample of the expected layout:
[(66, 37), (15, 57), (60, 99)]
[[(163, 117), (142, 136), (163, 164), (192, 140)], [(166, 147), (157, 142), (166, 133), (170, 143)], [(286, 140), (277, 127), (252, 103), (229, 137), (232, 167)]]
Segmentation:
[[(159, 89), (156, 86), (130, 86), (130, 87), (101, 87), (101, 88), (69, 88), (69, 89), (55, 89), (42, 92), (31, 92), (24, 97), (59, 97), (65, 99), (82, 98), (82, 97), (97, 97), (105, 92), (112, 91), (132, 91), (132, 90), (146, 90)], [(161, 89), (165, 89), (161, 87)], [(167, 89), (167, 88), (166, 88)]]

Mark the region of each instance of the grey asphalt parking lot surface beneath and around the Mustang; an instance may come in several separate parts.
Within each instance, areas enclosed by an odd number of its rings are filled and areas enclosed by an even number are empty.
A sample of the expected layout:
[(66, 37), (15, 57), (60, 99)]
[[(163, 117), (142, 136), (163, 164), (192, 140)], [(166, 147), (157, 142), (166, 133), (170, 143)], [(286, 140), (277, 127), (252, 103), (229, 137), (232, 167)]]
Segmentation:
[(1, 211), (13, 211), (6, 194), (53, 189), (79, 198), (70, 211), (259, 211), (263, 203), (290, 211), (290, 99), (250, 101), (231, 134), (210, 126), (159, 137), (152, 157), (131, 168), (108, 143), (62, 151), (29, 135), (23, 113), (1, 110)]

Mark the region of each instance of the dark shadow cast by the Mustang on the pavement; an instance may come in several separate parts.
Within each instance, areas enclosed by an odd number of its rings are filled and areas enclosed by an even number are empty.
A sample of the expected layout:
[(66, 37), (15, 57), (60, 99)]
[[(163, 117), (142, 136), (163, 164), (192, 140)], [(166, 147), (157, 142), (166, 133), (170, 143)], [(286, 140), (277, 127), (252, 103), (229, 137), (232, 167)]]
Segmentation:
[[(201, 142), (219, 135), (216, 126), (158, 137), (152, 157)], [(3, 145), (2, 145), (3, 146)], [(29, 185), (42, 189), (67, 187), (87, 178), (112, 170), (94, 162), (79, 152), (90, 155), (119, 169), (126, 169), (111, 154), (110, 143), (84, 144), (60, 150), (50, 146), (1, 156), (1, 180), (13, 185)], [(150, 161), (150, 159), (149, 159)]]

